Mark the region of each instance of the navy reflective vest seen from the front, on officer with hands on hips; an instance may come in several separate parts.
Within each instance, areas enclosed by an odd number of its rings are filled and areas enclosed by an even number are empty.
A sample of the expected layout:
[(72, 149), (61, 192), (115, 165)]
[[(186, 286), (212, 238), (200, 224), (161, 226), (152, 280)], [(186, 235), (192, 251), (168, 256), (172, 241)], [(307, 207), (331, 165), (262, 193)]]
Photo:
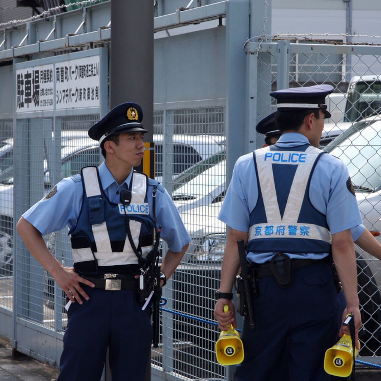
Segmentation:
[[(103, 191), (98, 168), (81, 170), (83, 200), (77, 226), (70, 229), (75, 269), (82, 274), (102, 273), (102, 266), (138, 264), (126, 233), (129, 219), (133, 243), (145, 258), (152, 250), (154, 221), (147, 202), (148, 178), (134, 171), (131, 180), (131, 202), (112, 203)], [(100, 268), (99, 268), (100, 267)], [(120, 268), (120, 267), (119, 267)], [(115, 273), (118, 273), (115, 270)]]

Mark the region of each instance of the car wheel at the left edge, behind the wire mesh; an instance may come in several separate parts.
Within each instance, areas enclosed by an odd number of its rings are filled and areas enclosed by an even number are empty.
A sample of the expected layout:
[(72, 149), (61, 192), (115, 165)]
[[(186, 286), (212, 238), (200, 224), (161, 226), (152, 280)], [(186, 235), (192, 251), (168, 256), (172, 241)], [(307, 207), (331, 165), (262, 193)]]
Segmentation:
[(12, 272), (12, 262), (13, 220), (8, 216), (0, 216), (0, 275)]

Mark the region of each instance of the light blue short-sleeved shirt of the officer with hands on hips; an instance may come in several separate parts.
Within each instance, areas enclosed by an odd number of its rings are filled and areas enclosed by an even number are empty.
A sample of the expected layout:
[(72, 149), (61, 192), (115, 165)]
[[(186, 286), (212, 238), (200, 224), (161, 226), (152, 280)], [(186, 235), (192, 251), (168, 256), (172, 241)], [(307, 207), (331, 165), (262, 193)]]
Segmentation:
[[(102, 187), (111, 202), (120, 202), (120, 191), (128, 188), (132, 178), (132, 171), (123, 182), (118, 185), (103, 162), (99, 167), (99, 177)], [(57, 192), (47, 200), (40, 200), (27, 210), (22, 217), (31, 223), (42, 235), (56, 232), (66, 225), (71, 229), (76, 226), (82, 205), (83, 187), (80, 176), (64, 178), (57, 184)], [(79, 181), (78, 181), (79, 180)], [(149, 181), (148, 204), (150, 216), (152, 213), (153, 182)], [(175, 253), (191, 241), (179, 216), (179, 212), (166, 189), (158, 184), (156, 192), (156, 222), (162, 226), (160, 237), (168, 244), (168, 248)]]

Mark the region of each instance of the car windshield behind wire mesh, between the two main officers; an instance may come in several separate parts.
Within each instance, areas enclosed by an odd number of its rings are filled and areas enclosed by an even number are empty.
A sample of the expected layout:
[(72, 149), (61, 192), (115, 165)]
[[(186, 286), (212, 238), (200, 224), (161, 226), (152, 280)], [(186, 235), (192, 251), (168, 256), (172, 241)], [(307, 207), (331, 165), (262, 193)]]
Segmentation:
[(225, 160), (203, 171), (191, 181), (179, 187), (173, 192), (173, 197), (188, 195), (197, 197), (207, 195), (225, 181)]

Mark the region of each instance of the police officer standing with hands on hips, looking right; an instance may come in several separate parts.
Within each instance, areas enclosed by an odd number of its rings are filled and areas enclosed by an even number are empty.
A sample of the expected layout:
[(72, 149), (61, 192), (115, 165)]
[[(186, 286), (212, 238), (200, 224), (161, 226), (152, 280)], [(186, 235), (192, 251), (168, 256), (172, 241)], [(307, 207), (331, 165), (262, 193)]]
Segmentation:
[[(161, 226), (169, 248), (161, 286), (191, 240), (166, 190), (133, 170), (143, 157), (142, 118), (136, 103), (114, 107), (89, 130), (105, 161), (64, 178), (17, 224), (30, 253), (69, 299), (59, 381), (99, 381), (107, 347), (114, 381), (144, 379), (152, 325), (150, 303), (144, 308), (137, 290), (148, 282), (153, 232)], [(62, 266), (42, 238), (66, 225), (74, 267)]]

